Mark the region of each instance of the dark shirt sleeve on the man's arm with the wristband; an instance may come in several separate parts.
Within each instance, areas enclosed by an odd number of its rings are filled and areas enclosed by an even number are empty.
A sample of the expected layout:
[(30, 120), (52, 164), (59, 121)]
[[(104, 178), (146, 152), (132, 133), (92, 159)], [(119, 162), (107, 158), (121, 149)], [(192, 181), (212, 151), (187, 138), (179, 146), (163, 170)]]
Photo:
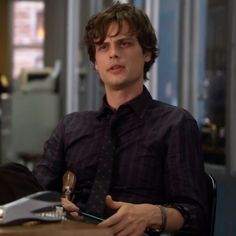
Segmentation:
[(171, 128), (165, 163), (167, 204), (185, 218), (179, 235), (204, 235), (207, 221), (204, 177), (199, 130), (195, 120), (187, 116)]

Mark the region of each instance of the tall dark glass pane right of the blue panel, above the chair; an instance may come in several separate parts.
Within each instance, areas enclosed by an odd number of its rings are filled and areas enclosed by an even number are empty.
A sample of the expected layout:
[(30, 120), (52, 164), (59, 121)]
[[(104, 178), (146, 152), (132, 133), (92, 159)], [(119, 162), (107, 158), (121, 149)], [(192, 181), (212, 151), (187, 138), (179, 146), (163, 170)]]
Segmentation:
[(201, 130), (205, 159), (215, 164), (225, 164), (227, 2), (208, 2), (204, 117)]

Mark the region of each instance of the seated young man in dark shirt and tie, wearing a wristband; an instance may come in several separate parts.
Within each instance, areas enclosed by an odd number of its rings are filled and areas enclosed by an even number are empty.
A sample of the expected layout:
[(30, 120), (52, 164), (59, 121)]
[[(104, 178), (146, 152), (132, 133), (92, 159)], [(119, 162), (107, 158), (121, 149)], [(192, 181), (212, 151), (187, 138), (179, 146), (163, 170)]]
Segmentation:
[[(46, 189), (61, 191), (63, 174), (74, 172), (77, 206), (63, 200), (65, 209), (105, 218), (99, 226), (112, 227), (115, 235), (147, 229), (204, 235), (206, 189), (196, 121), (153, 100), (143, 85), (159, 52), (148, 17), (115, 3), (89, 20), (85, 41), (105, 87), (103, 105), (60, 122), (35, 176)], [(103, 203), (97, 204), (101, 193)]]

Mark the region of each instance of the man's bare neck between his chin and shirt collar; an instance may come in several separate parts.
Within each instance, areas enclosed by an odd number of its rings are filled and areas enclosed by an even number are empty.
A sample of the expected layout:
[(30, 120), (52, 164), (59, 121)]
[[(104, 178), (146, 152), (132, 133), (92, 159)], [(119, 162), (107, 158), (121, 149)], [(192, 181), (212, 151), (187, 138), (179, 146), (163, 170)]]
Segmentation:
[(143, 85), (137, 89), (107, 90), (106, 98), (109, 106), (117, 110), (122, 104), (129, 102), (143, 92)]

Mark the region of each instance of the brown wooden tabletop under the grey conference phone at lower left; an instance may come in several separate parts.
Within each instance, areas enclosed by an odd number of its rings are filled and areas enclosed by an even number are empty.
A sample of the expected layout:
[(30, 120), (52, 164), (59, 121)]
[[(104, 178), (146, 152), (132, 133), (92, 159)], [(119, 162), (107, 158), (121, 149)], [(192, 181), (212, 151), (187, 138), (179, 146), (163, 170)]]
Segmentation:
[(0, 227), (0, 236), (113, 236), (112, 230), (96, 225), (65, 220), (60, 223), (35, 223)]

